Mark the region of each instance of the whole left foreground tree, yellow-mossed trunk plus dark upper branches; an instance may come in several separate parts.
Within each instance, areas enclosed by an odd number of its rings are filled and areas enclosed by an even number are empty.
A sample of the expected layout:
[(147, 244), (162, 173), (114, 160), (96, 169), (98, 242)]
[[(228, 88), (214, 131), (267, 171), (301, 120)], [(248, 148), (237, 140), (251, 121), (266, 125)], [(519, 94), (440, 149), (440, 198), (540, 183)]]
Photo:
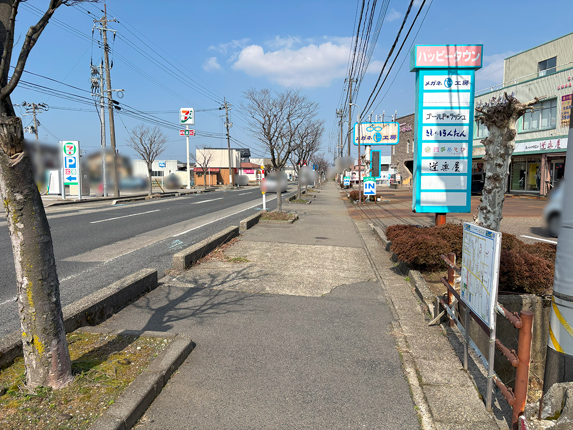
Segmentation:
[(0, 196), (14, 254), (26, 385), (62, 388), (73, 381), (73, 374), (52, 235), (34, 182), (32, 163), (24, 152), (22, 120), (14, 112), (10, 95), (56, 9), (80, 1), (49, 0), (46, 11), (26, 32), (18, 59), (10, 70), (21, 3), (21, 0), (0, 3)]

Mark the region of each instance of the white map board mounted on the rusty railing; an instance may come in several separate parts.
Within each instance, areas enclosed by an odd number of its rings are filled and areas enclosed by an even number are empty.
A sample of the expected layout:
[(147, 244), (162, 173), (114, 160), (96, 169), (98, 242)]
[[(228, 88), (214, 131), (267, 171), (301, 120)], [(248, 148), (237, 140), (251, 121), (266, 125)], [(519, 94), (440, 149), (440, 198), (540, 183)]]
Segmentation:
[(464, 222), (461, 299), (493, 329), (497, 305), (501, 233)]

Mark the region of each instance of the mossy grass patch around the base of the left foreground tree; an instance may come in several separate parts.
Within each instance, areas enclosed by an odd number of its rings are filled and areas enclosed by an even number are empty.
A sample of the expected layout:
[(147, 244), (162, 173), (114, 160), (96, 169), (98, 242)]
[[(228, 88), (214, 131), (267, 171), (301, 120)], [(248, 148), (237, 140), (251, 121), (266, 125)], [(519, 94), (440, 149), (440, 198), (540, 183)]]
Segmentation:
[[(88, 429), (170, 339), (70, 333), (75, 380), (66, 388), (27, 388), (22, 357), (0, 372), (0, 428)], [(66, 414), (66, 415), (64, 415)]]

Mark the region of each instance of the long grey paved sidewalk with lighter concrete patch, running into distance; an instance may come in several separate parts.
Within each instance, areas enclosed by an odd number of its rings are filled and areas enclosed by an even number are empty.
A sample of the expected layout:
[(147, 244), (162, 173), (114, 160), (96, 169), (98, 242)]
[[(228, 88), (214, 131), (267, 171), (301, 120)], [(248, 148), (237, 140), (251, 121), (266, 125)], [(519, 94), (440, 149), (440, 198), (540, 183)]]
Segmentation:
[(101, 325), (175, 331), (197, 344), (136, 428), (497, 429), (446, 337), (427, 327), (336, 187), (283, 208), (300, 220), (248, 230), (225, 251), (240, 262), (164, 277)]

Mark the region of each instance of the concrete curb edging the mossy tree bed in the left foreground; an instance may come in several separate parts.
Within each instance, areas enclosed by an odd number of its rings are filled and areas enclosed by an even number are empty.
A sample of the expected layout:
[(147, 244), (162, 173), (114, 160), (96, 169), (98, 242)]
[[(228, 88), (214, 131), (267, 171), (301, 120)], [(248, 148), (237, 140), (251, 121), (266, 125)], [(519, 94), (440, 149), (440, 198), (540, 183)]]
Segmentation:
[[(90, 333), (101, 333), (87, 330)], [(190, 338), (181, 334), (166, 334), (157, 331), (117, 330), (112, 334), (143, 337), (171, 338), (172, 341), (134, 381), (125, 388), (115, 402), (89, 427), (89, 430), (128, 430), (137, 423), (143, 413), (159, 395), (171, 375), (193, 350)]]

